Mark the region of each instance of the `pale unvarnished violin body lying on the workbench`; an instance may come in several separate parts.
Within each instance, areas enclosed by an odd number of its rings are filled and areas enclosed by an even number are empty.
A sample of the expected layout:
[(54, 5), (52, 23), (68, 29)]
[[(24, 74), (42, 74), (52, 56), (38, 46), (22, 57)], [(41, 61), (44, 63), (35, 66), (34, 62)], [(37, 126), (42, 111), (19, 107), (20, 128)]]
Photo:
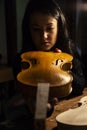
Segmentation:
[(87, 96), (78, 102), (78, 107), (69, 109), (56, 116), (58, 130), (87, 129)]

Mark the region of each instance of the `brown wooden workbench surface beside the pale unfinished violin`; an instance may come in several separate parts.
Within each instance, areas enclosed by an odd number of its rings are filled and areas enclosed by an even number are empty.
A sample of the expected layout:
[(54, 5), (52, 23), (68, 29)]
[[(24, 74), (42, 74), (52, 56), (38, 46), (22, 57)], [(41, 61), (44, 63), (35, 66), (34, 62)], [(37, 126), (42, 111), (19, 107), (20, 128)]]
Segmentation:
[(87, 96), (87, 88), (84, 89), (83, 94), (80, 96), (59, 101), (51, 117), (46, 119), (46, 130), (57, 130), (56, 116), (70, 108), (78, 107), (78, 101), (84, 96)]

